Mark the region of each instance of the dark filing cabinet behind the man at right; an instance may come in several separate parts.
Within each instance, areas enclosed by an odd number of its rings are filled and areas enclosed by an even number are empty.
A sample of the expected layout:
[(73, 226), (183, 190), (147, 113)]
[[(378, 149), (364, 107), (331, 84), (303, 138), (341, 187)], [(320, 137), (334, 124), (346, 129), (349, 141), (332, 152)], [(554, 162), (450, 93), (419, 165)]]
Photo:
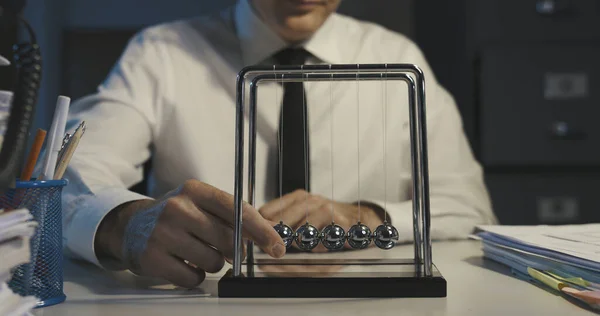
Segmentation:
[(500, 222), (600, 222), (600, 1), (415, 4)]

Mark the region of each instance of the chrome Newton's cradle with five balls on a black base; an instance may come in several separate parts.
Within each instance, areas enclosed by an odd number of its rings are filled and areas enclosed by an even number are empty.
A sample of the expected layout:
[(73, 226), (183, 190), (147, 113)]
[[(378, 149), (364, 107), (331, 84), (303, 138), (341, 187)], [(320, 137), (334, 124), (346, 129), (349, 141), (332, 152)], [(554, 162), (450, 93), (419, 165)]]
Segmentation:
[[(248, 202), (254, 205), (256, 180), (256, 112), (257, 91), (262, 82), (305, 81), (387, 81), (400, 80), (408, 86), (410, 143), (413, 186), (412, 259), (255, 259), (252, 242), (247, 243), (248, 256), (243, 259), (242, 198), (244, 189), (244, 120), (249, 81)], [(445, 297), (446, 280), (432, 262), (429, 209), (429, 170), (427, 165), (427, 128), (425, 121), (425, 78), (413, 64), (341, 64), (298, 66), (251, 66), (244, 68), (236, 86), (235, 140), (235, 215), (233, 268), (219, 281), (220, 297)], [(306, 119), (306, 118), (304, 118)], [(385, 128), (384, 128), (385, 130)], [(385, 133), (385, 132), (384, 132)], [(385, 134), (384, 134), (385, 137)], [(281, 156), (281, 155), (280, 155)], [(385, 156), (385, 153), (384, 153)], [(384, 158), (385, 159), (385, 158)], [(359, 179), (360, 182), (360, 179)], [(360, 190), (359, 190), (360, 191)], [(381, 249), (391, 249), (398, 231), (387, 220), (371, 231), (359, 222), (348, 232), (335, 223), (322, 231), (307, 221), (293, 231), (283, 221), (274, 229), (287, 247), (294, 242), (304, 251), (322, 243), (335, 251), (347, 241), (355, 249), (367, 248), (372, 242)], [(261, 267), (291, 266), (359, 266), (336, 273), (264, 273)], [(311, 270), (312, 271), (312, 270)]]

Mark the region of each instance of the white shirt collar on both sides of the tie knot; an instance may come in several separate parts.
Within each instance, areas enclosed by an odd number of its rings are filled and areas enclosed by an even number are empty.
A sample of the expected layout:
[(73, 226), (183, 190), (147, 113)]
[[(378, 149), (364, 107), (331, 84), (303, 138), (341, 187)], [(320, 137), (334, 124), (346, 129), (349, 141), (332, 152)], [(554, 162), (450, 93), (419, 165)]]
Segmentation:
[[(342, 63), (343, 58), (335, 33), (334, 13), (319, 30), (300, 46), (317, 60), (316, 63)], [(271, 30), (254, 12), (248, 0), (239, 0), (235, 8), (235, 27), (245, 65), (265, 61), (288, 44)]]

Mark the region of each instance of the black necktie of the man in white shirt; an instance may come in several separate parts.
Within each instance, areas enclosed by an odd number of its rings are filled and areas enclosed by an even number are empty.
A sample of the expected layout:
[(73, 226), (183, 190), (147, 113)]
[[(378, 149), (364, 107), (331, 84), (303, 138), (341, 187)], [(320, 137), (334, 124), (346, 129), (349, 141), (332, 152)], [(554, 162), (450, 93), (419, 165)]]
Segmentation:
[[(304, 49), (288, 48), (275, 54), (278, 65), (303, 65), (308, 57)], [(281, 155), (281, 175), (277, 168), (277, 195), (281, 187), (283, 195), (297, 189), (310, 191), (309, 157), (308, 152), (308, 109), (306, 95), (302, 82), (283, 83), (283, 104), (279, 117), (279, 139), (283, 148), (278, 150)], [(278, 144), (278, 146), (281, 144)], [(281, 182), (279, 182), (281, 179)]]

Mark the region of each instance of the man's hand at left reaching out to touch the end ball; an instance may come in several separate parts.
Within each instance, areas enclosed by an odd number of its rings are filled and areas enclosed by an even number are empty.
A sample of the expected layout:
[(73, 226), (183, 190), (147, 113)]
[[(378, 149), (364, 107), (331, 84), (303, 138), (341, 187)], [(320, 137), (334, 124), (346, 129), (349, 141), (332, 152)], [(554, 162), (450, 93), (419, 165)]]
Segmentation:
[[(272, 257), (285, 254), (281, 237), (252, 206), (244, 204), (242, 217), (244, 238)], [(136, 220), (142, 223), (137, 228)], [(148, 223), (154, 225), (149, 238), (139, 239)], [(233, 223), (233, 196), (189, 180), (159, 200), (134, 201), (112, 210), (98, 228), (95, 250), (99, 258), (117, 260), (139, 275), (192, 288), (206, 272), (220, 271), (225, 258), (233, 258)], [(130, 247), (131, 243), (143, 247)]]

